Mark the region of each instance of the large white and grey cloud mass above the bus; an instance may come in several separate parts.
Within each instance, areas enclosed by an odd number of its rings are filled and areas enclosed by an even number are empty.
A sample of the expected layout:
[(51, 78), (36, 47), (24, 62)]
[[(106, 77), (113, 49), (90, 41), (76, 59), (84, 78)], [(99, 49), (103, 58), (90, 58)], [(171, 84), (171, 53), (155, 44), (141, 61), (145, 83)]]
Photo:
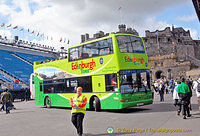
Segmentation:
[[(53, 37), (58, 48), (60, 37), (66, 37), (70, 44), (80, 42), (80, 35), (94, 34), (99, 30), (117, 31), (118, 24), (128, 24), (141, 36), (145, 30), (155, 31), (169, 26), (166, 22), (155, 21), (155, 16), (169, 6), (188, 3), (189, 0), (13, 0), (9, 10), (9, 22), (38, 30)], [(35, 4), (33, 9), (30, 5)], [(0, 5), (1, 6), (1, 5)], [(119, 7), (122, 7), (118, 11)], [(16, 11), (20, 8), (21, 11)], [(34, 10), (31, 12), (31, 10)], [(0, 10), (0, 14), (3, 10)], [(122, 22), (120, 21), (120, 12)], [(46, 42), (43, 41), (43, 42)], [(48, 41), (48, 44), (52, 44)], [(65, 45), (66, 46), (66, 45)]]

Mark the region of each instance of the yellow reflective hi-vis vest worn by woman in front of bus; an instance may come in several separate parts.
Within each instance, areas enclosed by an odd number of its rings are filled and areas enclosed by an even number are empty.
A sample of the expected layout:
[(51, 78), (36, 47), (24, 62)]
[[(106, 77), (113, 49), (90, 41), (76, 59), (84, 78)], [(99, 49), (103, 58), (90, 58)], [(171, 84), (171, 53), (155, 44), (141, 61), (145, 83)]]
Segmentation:
[[(77, 94), (72, 96), (73, 103), (76, 104), (76, 105), (82, 104), (85, 96), (81, 95), (78, 98), (77, 98), (77, 96), (78, 96)], [(72, 107), (71, 113), (83, 113), (83, 114), (85, 114), (85, 111), (86, 111), (86, 106), (84, 106), (84, 107)]]

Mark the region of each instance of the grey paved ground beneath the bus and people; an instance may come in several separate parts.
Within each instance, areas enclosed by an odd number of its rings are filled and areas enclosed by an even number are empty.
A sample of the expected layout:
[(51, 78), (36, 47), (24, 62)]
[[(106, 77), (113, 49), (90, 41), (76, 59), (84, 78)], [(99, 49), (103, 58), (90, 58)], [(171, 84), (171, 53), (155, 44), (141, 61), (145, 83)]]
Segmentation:
[[(98, 113), (87, 111), (84, 119), (84, 135), (111, 135), (106, 131), (108, 127), (114, 129), (112, 136), (199, 135), (200, 113), (196, 96), (192, 98), (192, 117), (186, 120), (176, 115), (171, 94), (165, 95), (165, 99), (166, 101), (161, 103), (158, 101), (159, 96), (156, 95), (152, 105)], [(70, 109), (46, 109), (35, 106), (34, 101), (14, 104), (17, 110), (12, 110), (11, 114), (0, 112), (0, 136), (76, 136), (76, 130), (70, 122)], [(188, 129), (186, 131), (192, 132), (153, 132), (159, 129), (171, 131)]]

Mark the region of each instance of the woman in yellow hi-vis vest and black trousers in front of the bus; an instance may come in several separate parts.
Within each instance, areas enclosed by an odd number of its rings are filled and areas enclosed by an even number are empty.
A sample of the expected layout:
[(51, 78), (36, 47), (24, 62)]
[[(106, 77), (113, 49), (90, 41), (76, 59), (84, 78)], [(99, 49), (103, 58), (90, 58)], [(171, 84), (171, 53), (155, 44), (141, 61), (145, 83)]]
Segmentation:
[(86, 111), (87, 98), (82, 95), (82, 87), (78, 87), (77, 94), (70, 99), (70, 105), (72, 107), (72, 123), (77, 129), (79, 136), (83, 134), (83, 118)]

